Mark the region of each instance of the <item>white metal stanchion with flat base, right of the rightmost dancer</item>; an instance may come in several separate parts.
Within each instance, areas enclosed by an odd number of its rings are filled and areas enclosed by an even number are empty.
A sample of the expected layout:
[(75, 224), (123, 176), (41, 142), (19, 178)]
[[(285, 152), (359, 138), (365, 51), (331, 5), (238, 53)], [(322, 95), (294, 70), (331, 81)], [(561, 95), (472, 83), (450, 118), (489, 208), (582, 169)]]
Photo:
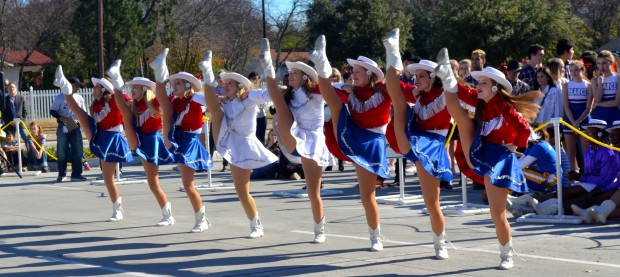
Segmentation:
[(564, 215), (564, 206), (562, 199), (562, 157), (560, 149), (560, 119), (552, 118), (553, 130), (555, 132), (555, 176), (557, 176), (557, 190), (558, 190), (558, 214), (557, 215), (537, 215), (526, 214), (517, 218), (519, 223), (567, 223), (567, 224), (581, 224), (582, 220), (578, 216)]

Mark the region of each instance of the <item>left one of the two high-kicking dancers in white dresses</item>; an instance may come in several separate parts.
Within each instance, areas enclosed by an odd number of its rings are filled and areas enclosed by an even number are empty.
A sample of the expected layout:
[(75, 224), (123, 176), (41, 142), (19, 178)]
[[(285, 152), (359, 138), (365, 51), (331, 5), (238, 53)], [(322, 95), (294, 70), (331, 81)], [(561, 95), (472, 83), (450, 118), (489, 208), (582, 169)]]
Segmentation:
[(230, 162), (235, 190), (246, 216), (250, 219), (250, 238), (264, 235), (254, 198), (250, 195), (252, 169), (278, 160), (256, 138), (256, 114), (258, 105), (271, 101), (267, 91), (250, 90), (252, 83), (233, 72), (221, 73), (224, 82), (223, 107), (215, 94), (215, 76), (211, 66), (211, 51), (207, 51), (199, 63), (204, 78), (207, 107), (211, 111), (213, 138), (217, 151)]

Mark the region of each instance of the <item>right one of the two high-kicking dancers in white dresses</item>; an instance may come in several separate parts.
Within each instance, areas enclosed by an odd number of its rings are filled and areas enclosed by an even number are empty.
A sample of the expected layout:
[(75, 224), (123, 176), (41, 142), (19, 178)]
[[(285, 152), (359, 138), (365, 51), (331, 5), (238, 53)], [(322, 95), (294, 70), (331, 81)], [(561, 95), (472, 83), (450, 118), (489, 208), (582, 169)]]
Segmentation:
[(323, 166), (331, 165), (331, 155), (323, 134), (323, 96), (318, 74), (302, 62), (286, 62), (292, 92), (282, 95), (276, 84), (269, 40), (260, 42), (259, 60), (266, 75), (269, 95), (278, 112), (278, 134), (284, 152), (301, 158), (306, 189), (314, 219), (314, 242), (325, 241), (325, 214), (321, 200)]

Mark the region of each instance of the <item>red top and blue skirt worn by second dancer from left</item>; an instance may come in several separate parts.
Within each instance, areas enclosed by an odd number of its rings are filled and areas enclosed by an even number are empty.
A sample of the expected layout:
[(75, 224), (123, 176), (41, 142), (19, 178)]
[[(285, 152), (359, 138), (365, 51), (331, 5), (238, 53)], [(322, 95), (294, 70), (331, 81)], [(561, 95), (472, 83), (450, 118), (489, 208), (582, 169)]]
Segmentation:
[[(153, 99), (153, 106), (159, 109), (159, 101)], [(138, 147), (134, 150), (136, 154), (145, 161), (164, 165), (174, 162), (174, 157), (170, 150), (166, 148), (164, 137), (161, 135), (161, 116), (151, 113), (146, 106), (146, 101), (141, 99), (134, 106), (137, 118), (134, 129), (138, 135)]]

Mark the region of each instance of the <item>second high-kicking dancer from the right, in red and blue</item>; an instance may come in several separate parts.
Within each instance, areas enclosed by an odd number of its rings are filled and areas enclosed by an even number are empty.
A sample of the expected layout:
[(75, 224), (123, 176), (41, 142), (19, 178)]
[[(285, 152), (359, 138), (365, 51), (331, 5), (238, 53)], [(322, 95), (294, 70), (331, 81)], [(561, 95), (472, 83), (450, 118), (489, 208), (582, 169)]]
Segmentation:
[[(399, 30), (394, 29), (383, 40), (386, 49), (386, 86), (394, 107), (394, 133), (398, 149), (415, 163), (424, 204), (430, 215), (435, 257), (448, 258), (446, 249), (445, 218), (439, 204), (439, 181), (452, 181), (452, 170), (445, 147), (450, 128), (450, 114), (446, 108), (445, 92), (439, 78), (433, 73), (437, 64), (429, 60), (410, 64), (406, 70), (416, 76), (415, 86), (400, 81), (403, 63), (399, 51)], [(407, 91), (403, 95), (402, 91)], [(413, 98), (413, 101), (406, 100)], [(414, 102), (409, 107), (407, 102)]]

